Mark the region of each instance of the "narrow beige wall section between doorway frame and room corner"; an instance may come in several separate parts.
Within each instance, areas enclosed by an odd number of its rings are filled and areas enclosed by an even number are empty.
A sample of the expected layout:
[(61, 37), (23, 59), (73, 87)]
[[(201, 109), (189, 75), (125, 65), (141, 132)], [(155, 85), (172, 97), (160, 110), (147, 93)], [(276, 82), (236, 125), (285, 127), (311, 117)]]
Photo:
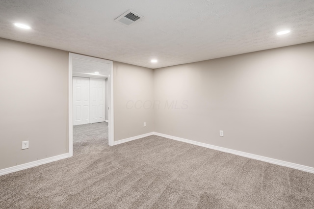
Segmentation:
[(113, 62), (113, 95), (114, 141), (154, 131), (152, 69)]

